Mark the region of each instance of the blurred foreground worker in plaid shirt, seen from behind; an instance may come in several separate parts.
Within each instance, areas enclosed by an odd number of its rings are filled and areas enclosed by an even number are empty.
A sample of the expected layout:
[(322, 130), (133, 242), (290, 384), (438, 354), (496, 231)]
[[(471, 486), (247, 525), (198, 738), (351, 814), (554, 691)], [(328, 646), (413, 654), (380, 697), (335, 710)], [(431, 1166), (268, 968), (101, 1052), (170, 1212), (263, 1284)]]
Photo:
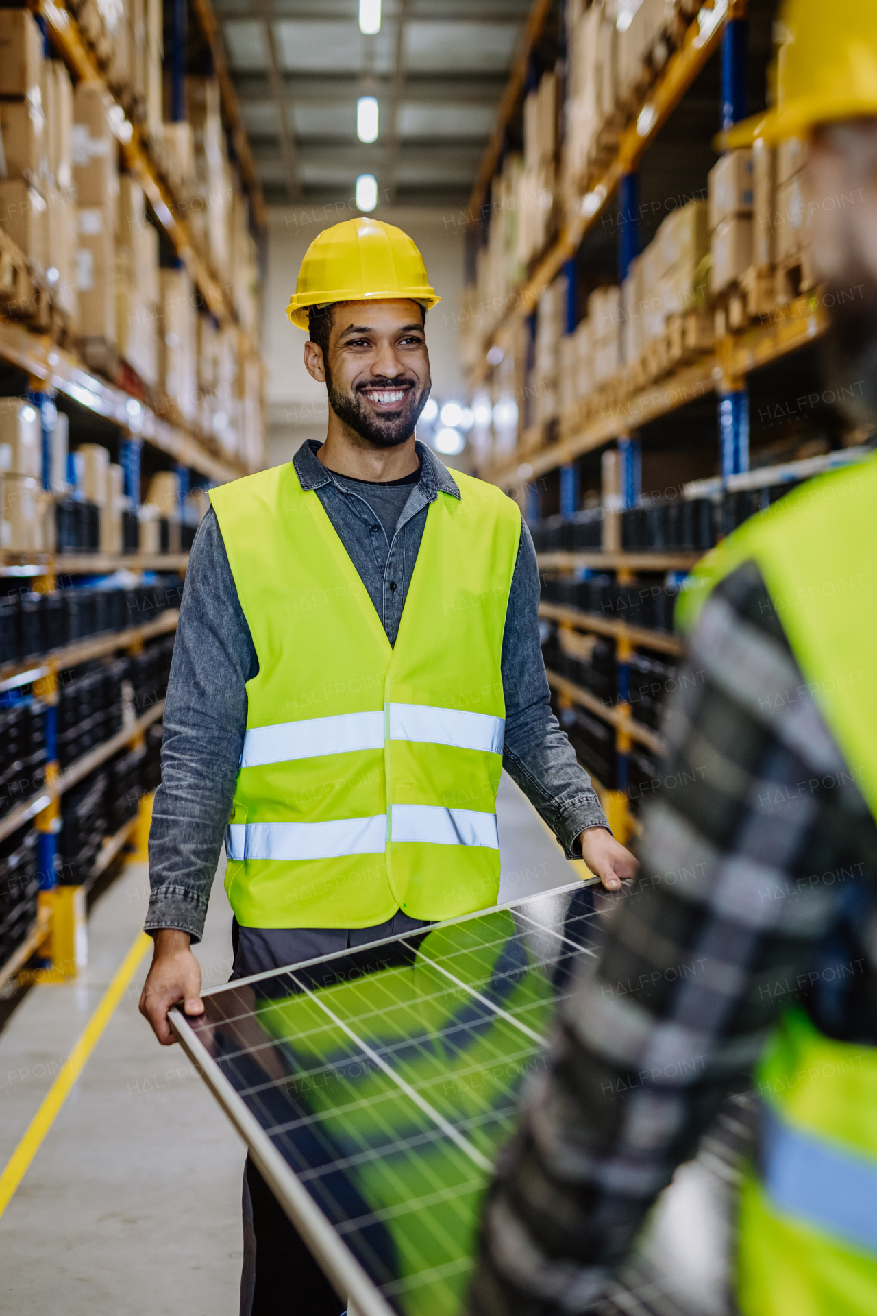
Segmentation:
[[(826, 365), (873, 433), (877, 5), (794, 0), (780, 30), (777, 108), (757, 132), (810, 137)], [(622, 1298), (617, 1277), (635, 1275), (657, 1194), (747, 1090), (739, 1309), (877, 1312), (877, 459), (748, 521), (694, 584), (643, 875), (504, 1154), (473, 1316), (677, 1309)]]

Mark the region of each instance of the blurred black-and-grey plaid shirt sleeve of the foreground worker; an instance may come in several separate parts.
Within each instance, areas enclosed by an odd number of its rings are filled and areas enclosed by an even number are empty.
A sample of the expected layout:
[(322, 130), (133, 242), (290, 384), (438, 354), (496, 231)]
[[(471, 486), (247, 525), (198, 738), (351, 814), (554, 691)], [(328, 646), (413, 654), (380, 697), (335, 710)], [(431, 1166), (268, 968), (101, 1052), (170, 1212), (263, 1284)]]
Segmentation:
[[(873, 1033), (849, 900), (866, 894), (874, 917), (877, 828), (753, 565), (707, 600), (664, 732), (640, 876), (613, 901), (485, 1202), (473, 1316), (598, 1303), (793, 1000), (832, 1036), (856, 1019)], [(841, 998), (820, 996), (826, 955), (857, 965)]]

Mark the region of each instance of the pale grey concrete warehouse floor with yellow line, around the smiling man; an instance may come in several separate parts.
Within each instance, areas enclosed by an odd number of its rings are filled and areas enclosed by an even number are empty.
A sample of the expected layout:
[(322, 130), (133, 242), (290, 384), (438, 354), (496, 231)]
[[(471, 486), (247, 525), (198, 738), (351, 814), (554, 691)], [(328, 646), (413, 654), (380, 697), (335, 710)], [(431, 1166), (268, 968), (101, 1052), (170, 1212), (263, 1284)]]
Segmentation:
[[(581, 874), (504, 775), (501, 900)], [(222, 869), (222, 865), (221, 865)], [(88, 967), (33, 987), (0, 1032), (0, 1169), (143, 924), (145, 863), (130, 863), (88, 925)], [(196, 954), (204, 984), (231, 971), (231, 912), (214, 882)], [(149, 954), (0, 1217), (0, 1308), (64, 1316), (234, 1316), (243, 1148), (179, 1048), (137, 1011)]]

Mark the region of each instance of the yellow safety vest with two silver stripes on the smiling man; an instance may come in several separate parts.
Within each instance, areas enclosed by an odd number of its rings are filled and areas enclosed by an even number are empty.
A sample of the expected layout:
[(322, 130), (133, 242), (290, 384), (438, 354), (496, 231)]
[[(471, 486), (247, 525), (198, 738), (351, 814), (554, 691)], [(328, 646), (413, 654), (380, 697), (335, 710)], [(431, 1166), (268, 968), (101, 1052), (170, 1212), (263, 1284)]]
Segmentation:
[(367, 928), (496, 901), (501, 653), (518, 507), (454, 472), (396, 645), (292, 463), (213, 490), (259, 674), (226, 836), (250, 928)]

